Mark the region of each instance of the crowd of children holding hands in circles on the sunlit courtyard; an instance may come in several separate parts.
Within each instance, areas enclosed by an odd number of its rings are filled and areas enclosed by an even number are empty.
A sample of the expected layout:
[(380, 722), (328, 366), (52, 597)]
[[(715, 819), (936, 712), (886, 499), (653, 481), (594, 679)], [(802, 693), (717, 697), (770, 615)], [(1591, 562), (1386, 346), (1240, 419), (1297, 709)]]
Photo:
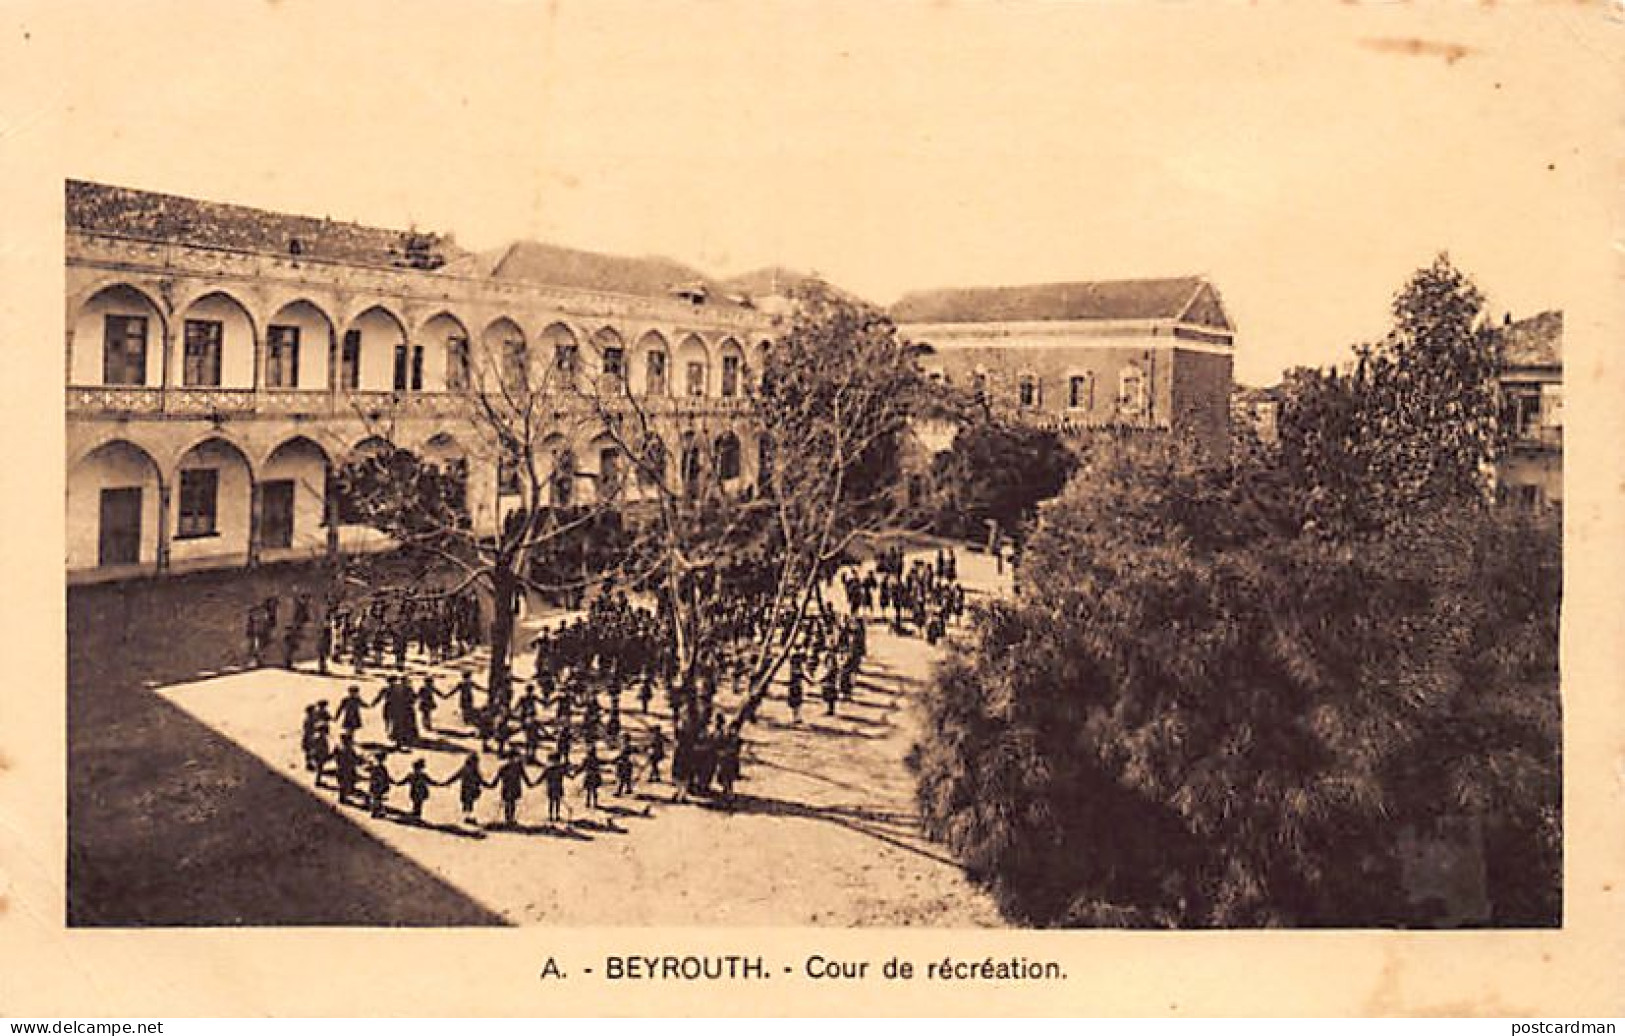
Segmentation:
[[(853, 700), (855, 676), (868, 651), (866, 598), (876, 588), (884, 602), (925, 602), (931, 612), (928, 624), (931, 617), (946, 624), (964, 609), (951, 554), (939, 552), (934, 563), (916, 562), (907, 573), (890, 572), (890, 560), (882, 559), (868, 575), (843, 576), (848, 614), (837, 614), (821, 599), (800, 617), (782, 617), (785, 625), (777, 638), (765, 638), (786, 650), (780, 651), (783, 698), (793, 723), (801, 723), (809, 684), (819, 687), (826, 714), (835, 714), (842, 701)], [(478, 802), (494, 789), (504, 823), (514, 825), (525, 791), (544, 788), (548, 820), (556, 823), (566, 814), (572, 778), (580, 779), (585, 807), (600, 809), (606, 770), (614, 775), (614, 794), (632, 796), (640, 776), (652, 783), (665, 779), (661, 765), (670, 750), (674, 799), (720, 794), (723, 802), (733, 802), (744, 755), (743, 727), (769, 698), (774, 654), (762, 651), (762, 633), (772, 619), (765, 593), (748, 581), (718, 581), (705, 589), (713, 594), (707, 650), (694, 653), (681, 674), (670, 646), (674, 640), (666, 627), (673, 620), (670, 609), (658, 599), (655, 607), (645, 607), (632, 604), (626, 593), (601, 594), (585, 615), (536, 637), (533, 676), (518, 693), (512, 680), (481, 689), (468, 671), (447, 689), (437, 687), (434, 676), (422, 676), (413, 685), (400, 672), (388, 674), (370, 697), (351, 685), (332, 710), (325, 700), (307, 706), (306, 768), (318, 786), (332, 779), (341, 802), (359, 802), (374, 815), (392, 812), (393, 789), (405, 788), (406, 815), (414, 822), (422, 822), (436, 788), (457, 786), (465, 823), (476, 823)], [(401, 614), (418, 612), (406, 604)], [(432, 609), (422, 614), (431, 615), (432, 625)], [(442, 619), (457, 627), (450, 615), (453, 612), (442, 612)], [(408, 628), (418, 627), (408, 624)], [(928, 625), (928, 637), (931, 628)], [(460, 637), (450, 645), (462, 645)], [(934, 643), (936, 637), (931, 640)], [(450, 650), (442, 646), (439, 633), (429, 633), (421, 643), (436, 661)], [(367, 656), (366, 650), (356, 654), (358, 672)], [(396, 656), (403, 659), (405, 651), (396, 650)], [(648, 718), (656, 687), (663, 689), (671, 716), (670, 742), (661, 726)], [(627, 729), (622, 710), (622, 697), (629, 692), (637, 698), (637, 726), (642, 727), (637, 737)], [(722, 708), (723, 692), (734, 698), (731, 723)], [(440, 731), (436, 727), (439, 705), (453, 700), (463, 727)], [(390, 747), (372, 749), (369, 755), (359, 736), (370, 710), (380, 710)], [(471, 739), (462, 763), (436, 776), (424, 758), (416, 758), (405, 773), (392, 775), (388, 752), (421, 747), (424, 731)], [(578, 760), (577, 750), (582, 752)], [(483, 753), (497, 760), (489, 776), (483, 770)]]

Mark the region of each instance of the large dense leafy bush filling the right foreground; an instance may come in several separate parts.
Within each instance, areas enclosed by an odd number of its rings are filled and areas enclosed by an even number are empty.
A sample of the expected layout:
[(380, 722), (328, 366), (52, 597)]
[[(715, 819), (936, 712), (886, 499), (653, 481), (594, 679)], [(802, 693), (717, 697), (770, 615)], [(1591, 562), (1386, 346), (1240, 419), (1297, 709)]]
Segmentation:
[(1406, 838), (1471, 817), (1488, 921), (1557, 924), (1557, 531), (1336, 542), (1271, 477), (1090, 456), (936, 674), (928, 830), (1027, 924), (1401, 926)]

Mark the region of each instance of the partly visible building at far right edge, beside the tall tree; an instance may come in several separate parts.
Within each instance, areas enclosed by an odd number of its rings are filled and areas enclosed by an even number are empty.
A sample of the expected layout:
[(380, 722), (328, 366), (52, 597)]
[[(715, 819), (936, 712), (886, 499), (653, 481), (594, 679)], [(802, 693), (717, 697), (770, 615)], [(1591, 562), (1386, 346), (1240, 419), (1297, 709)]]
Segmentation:
[(1510, 442), (1495, 466), (1497, 494), (1510, 505), (1545, 510), (1563, 502), (1563, 313), (1497, 328), (1502, 421)]

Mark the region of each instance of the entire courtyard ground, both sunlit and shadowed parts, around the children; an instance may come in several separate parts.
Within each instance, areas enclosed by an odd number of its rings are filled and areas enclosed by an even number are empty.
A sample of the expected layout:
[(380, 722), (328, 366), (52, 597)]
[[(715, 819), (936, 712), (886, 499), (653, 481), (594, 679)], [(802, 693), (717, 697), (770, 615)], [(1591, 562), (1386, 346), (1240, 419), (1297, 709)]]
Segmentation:
[[(973, 591), (1003, 583), (991, 560), (964, 550), (959, 557)], [(70, 883), (84, 878), (73, 888), (76, 919), (994, 926), (991, 900), (920, 835), (913, 809), (904, 757), (916, 729), (920, 682), (934, 656), (921, 638), (894, 637), (873, 624), (856, 701), (843, 703), (835, 718), (824, 716), (811, 695), (801, 724), (790, 723), (782, 700), (764, 706), (762, 721), (748, 729), (744, 779), (731, 810), (676, 804), (670, 784), (640, 783), (627, 799), (609, 796), (606, 786), (608, 809), (593, 812), (572, 781), (570, 823), (548, 825), (536, 789), (517, 830), (489, 827), (499, 810), (494, 792), (479, 804), (488, 825), (471, 830), (458, 822), (452, 788), (436, 791), (424, 825), (341, 809), (330, 788), (314, 788), (299, 758), (299, 718), (307, 701), (341, 697), (348, 676), (237, 671), (128, 693), (132, 716), (115, 723), (136, 739), (153, 739), (158, 763), (135, 773), (114, 768), (102, 775), (106, 783), (94, 773), (75, 776), (73, 801), (83, 805), (75, 823), (86, 822), (75, 833), (81, 874), (70, 872)], [(457, 667), (410, 664), (414, 677), (440, 674), (442, 685), (455, 680)], [(528, 661), (520, 663), (525, 671)], [(364, 687), (370, 693), (375, 679)], [(624, 705), (634, 710), (627, 729), (635, 736), (647, 721), (630, 697)], [(419, 750), (434, 776), (455, 770), (473, 742), (450, 703), (440, 721), (448, 729)], [(362, 740), (380, 739), (375, 724), (374, 713)], [(408, 766), (405, 755), (390, 757), (396, 776)], [(401, 789), (395, 801), (405, 805)], [(98, 846), (98, 818), (119, 830), (117, 846)], [(145, 836), (136, 838), (132, 825)], [(130, 854), (122, 869), (128, 882), (119, 878), (109, 851)]]

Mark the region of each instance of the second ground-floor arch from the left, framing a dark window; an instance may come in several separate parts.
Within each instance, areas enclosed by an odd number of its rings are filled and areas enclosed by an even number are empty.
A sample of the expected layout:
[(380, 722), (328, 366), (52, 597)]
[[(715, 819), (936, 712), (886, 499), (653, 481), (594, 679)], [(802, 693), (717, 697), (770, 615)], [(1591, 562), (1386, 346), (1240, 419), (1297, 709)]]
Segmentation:
[(169, 494), (176, 562), (250, 555), (254, 481), (247, 451), (219, 432), (180, 451)]

